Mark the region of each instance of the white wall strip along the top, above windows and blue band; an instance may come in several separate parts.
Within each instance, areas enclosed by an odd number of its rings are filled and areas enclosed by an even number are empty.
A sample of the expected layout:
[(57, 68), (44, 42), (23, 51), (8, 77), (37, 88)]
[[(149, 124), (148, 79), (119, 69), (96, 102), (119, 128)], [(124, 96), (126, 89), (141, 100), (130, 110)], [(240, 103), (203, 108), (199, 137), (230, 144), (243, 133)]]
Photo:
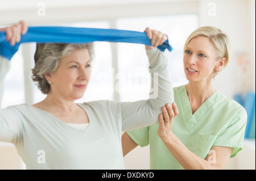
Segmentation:
[[(18, 22), (20, 19), (34, 25), (112, 20), (136, 16), (193, 14), (197, 12), (197, 3), (193, 0), (66, 0), (61, 2), (9, 0), (0, 6), (0, 17), (5, 17), (0, 19), (0, 26)], [(40, 11), (42, 7), (45, 7), (44, 15)]]

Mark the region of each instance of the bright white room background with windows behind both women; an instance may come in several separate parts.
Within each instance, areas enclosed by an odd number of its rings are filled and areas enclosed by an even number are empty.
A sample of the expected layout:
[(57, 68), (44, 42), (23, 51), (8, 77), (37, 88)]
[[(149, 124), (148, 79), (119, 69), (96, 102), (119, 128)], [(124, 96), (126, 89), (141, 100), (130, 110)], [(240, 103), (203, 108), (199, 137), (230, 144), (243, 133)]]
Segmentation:
[[(187, 83), (183, 73), (183, 45), (188, 35), (197, 27), (215, 26), (228, 33), (232, 53), (229, 65), (213, 82), (214, 87), (230, 98), (237, 94), (245, 97), (248, 91), (255, 94), (254, 0), (9, 0), (1, 3), (0, 17), (4, 17), (0, 19), (0, 27), (25, 20), (30, 26), (118, 28), (141, 32), (150, 27), (162, 31), (174, 48), (168, 54), (168, 69), (174, 86)], [(92, 78), (84, 97), (77, 102), (147, 99), (150, 79), (144, 46), (106, 42), (95, 45)], [(24, 44), (11, 60), (2, 108), (34, 104), (44, 99), (45, 95), (31, 81), (34, 52), (35, 44)], [(131, 151), (125, 157), (126, 168), (149, 169), (148, 153), (148, 146)], [(24, 168), (15, 154), (13, 145), (0, 143), (0, 169)], [(17, 159), (11, 161), (11, 158)], [(244, 149), (230, 159), (226, 169), (255, 169), (255, 133), (254, 138), (246, 138)]]

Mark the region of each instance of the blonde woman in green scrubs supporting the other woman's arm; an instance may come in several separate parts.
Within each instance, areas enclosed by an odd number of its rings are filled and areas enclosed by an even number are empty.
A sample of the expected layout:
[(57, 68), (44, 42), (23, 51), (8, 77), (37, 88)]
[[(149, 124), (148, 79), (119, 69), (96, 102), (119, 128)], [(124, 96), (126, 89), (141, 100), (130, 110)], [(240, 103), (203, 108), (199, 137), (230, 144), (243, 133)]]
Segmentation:
[(247, 120), (245, 109), (212, 85), (228, 61), (225, 33), (192, 32), (184, 45), (188, 84), (174, 88), (176, 104), (162, 107), (159, 124), (123, 134), (123, 155), (150, 144), (151, 169), (222, 169), (242, 149)]

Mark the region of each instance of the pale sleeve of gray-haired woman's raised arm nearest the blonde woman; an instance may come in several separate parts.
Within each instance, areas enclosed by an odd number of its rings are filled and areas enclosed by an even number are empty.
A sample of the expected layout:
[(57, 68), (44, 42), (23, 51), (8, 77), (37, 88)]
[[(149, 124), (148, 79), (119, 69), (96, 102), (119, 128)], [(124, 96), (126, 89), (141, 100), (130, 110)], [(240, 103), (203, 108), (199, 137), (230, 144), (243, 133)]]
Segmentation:
[[(147, 127), (158, 123), (161, 107), (174, 102), (174, 91), (167, 70), (168, 59), (157, 48), (147, 50), (150, 73), (154, 77), (149, 99), (121, 103), (122, 131)], [(154, 76), (155, 75), (155, 76)]]

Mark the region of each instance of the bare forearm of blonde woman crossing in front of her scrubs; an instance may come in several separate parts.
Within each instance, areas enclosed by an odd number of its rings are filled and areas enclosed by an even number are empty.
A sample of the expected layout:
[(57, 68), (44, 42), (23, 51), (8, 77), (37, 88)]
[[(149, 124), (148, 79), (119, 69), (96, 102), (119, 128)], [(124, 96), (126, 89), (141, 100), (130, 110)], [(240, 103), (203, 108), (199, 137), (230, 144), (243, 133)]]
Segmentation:
[(186, 148), (186, 146), (179, 140), (179, 138), (175, 136), (174, 133), (171, 133), (171, 136), (168, 138), (162, 138), (162, 141), (184, 169), (213, 169), (212, 165), (207, 160), (200, 158)]

